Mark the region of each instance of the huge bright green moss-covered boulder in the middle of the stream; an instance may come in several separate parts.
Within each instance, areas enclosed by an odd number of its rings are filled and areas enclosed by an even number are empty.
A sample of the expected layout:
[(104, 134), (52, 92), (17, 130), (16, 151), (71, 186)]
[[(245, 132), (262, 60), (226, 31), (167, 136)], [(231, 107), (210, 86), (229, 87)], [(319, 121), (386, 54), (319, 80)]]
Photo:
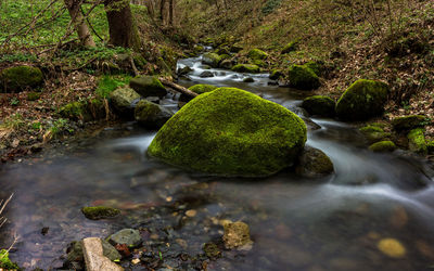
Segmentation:
[(260, 177), (292, 165), (305, 141), (306, 126), (294, 113), (247, 91), (219, 88), (175, 114), (148, 153), (190, 170)]

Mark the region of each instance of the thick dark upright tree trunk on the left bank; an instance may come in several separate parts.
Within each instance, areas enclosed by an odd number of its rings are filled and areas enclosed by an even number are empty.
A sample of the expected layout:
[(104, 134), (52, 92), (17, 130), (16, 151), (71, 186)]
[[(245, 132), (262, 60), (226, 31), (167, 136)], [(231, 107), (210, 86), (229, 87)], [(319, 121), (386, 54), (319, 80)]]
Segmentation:
[(140, 50), (139, 30), (132, 17), (129, 1), (105, 0), (104, 5), (108, 21), (108, 43)]

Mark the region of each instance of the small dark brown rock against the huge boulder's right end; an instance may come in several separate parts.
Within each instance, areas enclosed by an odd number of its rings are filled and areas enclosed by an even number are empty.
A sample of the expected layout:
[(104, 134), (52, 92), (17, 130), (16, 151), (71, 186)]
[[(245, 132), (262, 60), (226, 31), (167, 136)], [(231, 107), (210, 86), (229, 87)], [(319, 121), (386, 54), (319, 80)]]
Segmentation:
[(319, 178), (333, 173), (333, 163), (321, 150), (306, 146), (295, 168), (297, 175)]

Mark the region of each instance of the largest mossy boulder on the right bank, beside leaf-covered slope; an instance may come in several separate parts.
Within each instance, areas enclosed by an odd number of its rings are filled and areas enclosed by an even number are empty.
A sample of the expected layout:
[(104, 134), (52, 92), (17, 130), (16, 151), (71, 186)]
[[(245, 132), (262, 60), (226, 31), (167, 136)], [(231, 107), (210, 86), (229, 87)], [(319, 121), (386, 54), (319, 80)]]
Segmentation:
[(342, 120), (367, 120), (384, 112), (388, 87), (374, 80), (355, 81), (336, 103), (336, 114)]

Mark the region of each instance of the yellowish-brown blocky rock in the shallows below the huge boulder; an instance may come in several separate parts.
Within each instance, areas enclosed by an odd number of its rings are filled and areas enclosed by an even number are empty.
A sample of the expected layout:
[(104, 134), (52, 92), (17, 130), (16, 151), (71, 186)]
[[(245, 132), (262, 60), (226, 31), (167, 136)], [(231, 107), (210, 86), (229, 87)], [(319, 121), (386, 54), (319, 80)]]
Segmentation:
[(253, 241), (251, 240), (250, 229), (246, 223), (241, 221), (226, 223), (224, 229), (224, 242), (226, 248), (248, 249), (248, 247), (252, 246)]

